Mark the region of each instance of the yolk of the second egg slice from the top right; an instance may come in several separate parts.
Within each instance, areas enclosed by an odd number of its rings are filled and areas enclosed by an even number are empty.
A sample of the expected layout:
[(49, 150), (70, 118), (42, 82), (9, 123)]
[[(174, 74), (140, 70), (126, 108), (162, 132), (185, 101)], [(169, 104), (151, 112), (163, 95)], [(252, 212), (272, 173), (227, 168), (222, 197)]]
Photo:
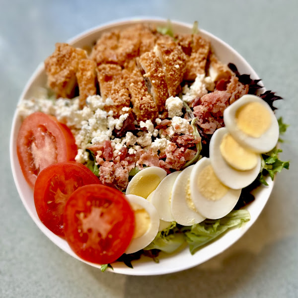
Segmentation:
[(253, 169), (257, 163), (257, 154), (239, 145), (230, 134), (225, 134), (220, 145), (224, 160), (233, 168), (246, 171)]

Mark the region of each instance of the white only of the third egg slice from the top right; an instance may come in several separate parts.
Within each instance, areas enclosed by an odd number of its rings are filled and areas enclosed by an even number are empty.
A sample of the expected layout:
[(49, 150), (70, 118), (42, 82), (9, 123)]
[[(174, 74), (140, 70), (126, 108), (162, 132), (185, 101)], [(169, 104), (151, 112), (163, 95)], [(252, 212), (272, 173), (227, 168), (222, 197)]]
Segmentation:
[(223, 198), (216, 201), (205, 198), (198, 187), (198, 175), (209, 164), (210, 159), (207, 157), (203, 157), (195, 164), (190, 174), (190, 190), (198, 212), (207, 219), (216, 220), (232, 211), (240, 197), (241, 189), (229, 189)]

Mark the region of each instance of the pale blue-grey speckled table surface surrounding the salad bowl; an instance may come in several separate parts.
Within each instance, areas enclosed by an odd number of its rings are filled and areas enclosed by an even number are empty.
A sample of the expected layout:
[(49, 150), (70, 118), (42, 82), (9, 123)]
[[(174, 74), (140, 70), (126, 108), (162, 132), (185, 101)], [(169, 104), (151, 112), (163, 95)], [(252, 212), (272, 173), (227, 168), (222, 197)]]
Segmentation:
[[(0, 297), (298, 297), (298, 1), (1, 0)], [(236, 49), (267, 89), (285, 98), (277, 114), (291, 124), (267, 206), (231, 248), (193, 269), (165, 276), (101, 273), (55, 246), (23, 207), (9, 162), (18, 97), (37, 65), (63, 42), (119, 18), (193, 22)]]

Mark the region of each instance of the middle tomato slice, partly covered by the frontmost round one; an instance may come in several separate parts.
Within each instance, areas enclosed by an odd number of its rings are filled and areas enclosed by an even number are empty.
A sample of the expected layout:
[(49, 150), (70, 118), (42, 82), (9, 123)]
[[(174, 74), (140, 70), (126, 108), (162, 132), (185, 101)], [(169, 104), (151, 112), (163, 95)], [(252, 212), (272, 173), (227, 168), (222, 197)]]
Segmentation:
[(87, 184), (101, 184), (87, 167), (79, 162), (59, 162), (44, 168), (34, 187), (36, 212), (42, 223), (64, 237), (63, 212), (70, 195)]

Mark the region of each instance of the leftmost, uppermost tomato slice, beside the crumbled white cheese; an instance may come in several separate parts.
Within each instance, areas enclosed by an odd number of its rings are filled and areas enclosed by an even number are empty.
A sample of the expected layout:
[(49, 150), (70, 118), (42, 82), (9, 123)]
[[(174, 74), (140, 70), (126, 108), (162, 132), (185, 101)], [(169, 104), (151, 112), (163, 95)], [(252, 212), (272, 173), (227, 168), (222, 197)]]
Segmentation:
[(56, 162), (74, 160), (77, 153), (70, 129), (42, 112), (33, 113), (24, 120), (16, 146), (23, 175), (32, 188), (42, 169)]

